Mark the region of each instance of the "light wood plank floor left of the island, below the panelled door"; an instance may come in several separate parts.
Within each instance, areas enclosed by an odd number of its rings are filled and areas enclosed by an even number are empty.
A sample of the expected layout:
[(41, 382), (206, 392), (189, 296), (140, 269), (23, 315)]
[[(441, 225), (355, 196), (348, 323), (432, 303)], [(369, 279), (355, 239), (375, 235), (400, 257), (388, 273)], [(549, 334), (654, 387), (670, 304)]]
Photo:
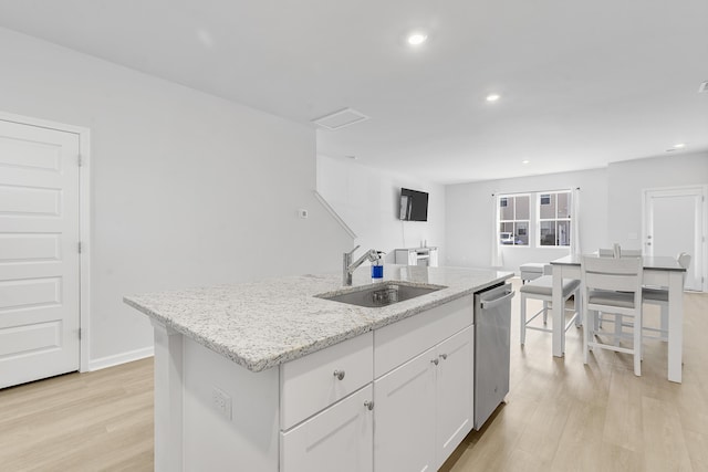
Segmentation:
[(0, 390), (0, 471), (152, 471), (153, 359)]

